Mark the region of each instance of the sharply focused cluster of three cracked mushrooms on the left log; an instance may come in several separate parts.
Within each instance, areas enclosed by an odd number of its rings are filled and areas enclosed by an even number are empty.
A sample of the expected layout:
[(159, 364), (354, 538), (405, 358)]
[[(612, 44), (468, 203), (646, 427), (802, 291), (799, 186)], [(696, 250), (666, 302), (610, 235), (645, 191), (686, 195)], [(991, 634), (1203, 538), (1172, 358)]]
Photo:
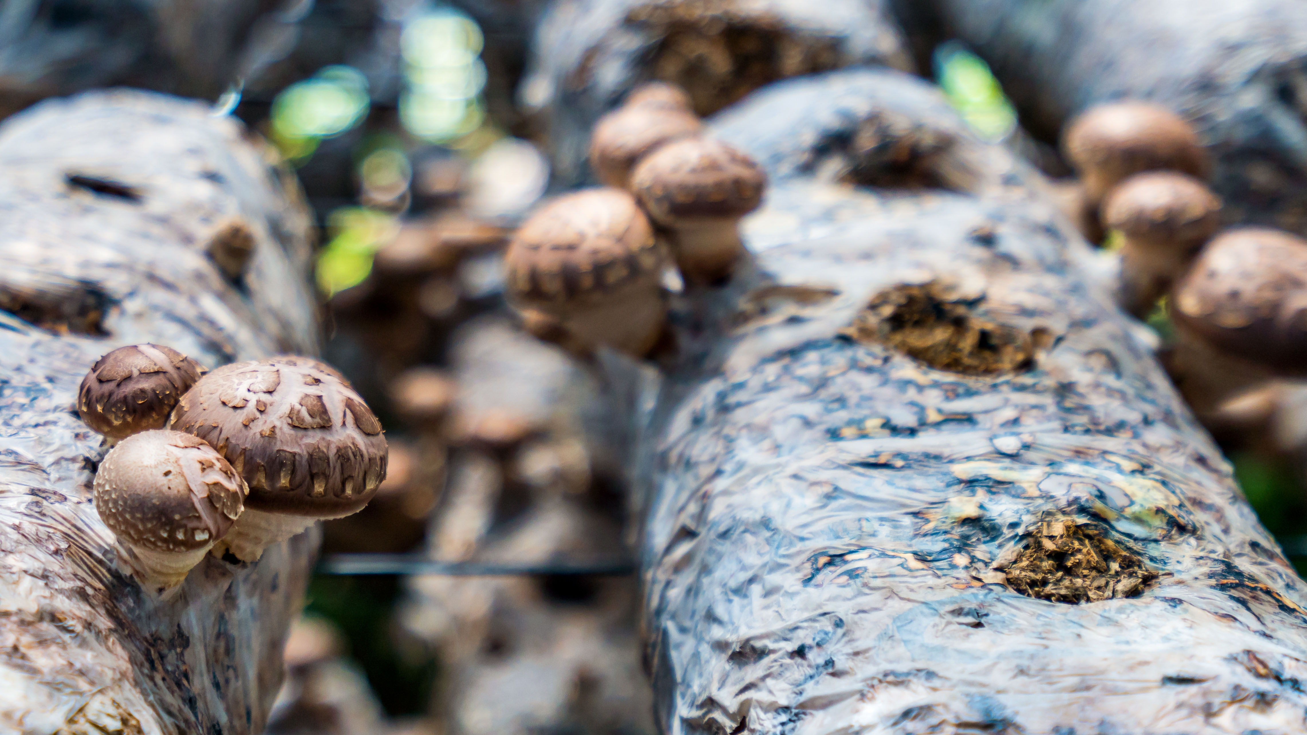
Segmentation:
[(95, 473), (97, 509), (142, 581), (163, 589), (207, 552), (254, 561), (359, 510), (386, 477), (376, 416), (308, 358), (204, 375), (169, 347), (120, 347), (88, 373), (77, 409), (114, 444)]

